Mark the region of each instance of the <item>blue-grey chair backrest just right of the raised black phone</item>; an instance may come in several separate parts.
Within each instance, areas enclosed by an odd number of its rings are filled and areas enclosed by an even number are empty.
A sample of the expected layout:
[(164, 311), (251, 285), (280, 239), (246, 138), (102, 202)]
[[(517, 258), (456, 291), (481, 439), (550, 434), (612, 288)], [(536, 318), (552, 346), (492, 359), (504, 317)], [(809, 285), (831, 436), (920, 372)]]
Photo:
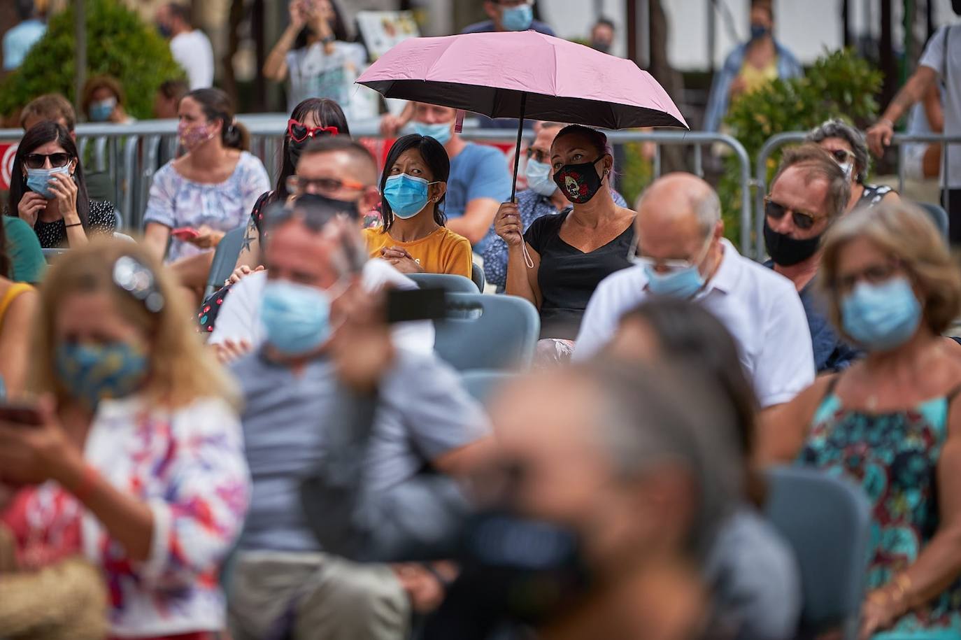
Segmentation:
[(526, 368), (537, 346), (540, 316), (523, 298), (449, 293), (447, 316), (433, 326), (434, 351), (458, 371)]

